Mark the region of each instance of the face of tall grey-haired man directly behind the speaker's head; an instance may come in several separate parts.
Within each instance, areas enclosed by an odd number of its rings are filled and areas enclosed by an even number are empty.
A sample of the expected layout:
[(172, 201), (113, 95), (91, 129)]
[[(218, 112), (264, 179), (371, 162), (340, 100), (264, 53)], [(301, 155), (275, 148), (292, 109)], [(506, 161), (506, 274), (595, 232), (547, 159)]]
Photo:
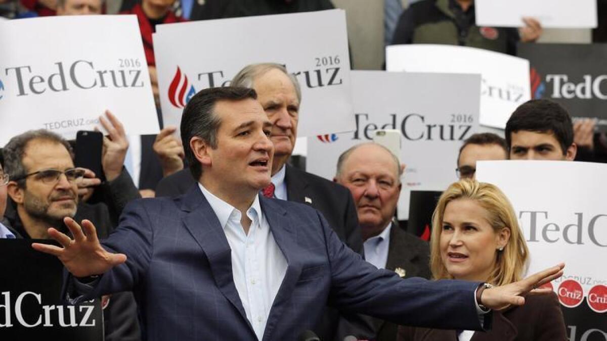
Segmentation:
[(274, 144), (274, 158), (279, 169), (291, 156), (297, 138), (297, 93), (291, 79), (276, 69), (257, 76), (253, 88), (257, 92), (257, 101), (272, 123), (270, 140)]

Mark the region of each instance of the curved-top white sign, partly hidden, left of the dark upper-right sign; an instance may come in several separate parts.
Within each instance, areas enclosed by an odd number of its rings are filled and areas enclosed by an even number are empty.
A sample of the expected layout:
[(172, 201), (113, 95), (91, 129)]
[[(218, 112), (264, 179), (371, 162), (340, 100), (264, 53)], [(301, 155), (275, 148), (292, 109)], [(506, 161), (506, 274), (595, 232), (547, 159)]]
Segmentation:
[(394, 45), (386, 48), (388, 71), (480, 73), (480, 124), (504, 129), (514, 109), (531, 99), (529, 61), (473, 47)]

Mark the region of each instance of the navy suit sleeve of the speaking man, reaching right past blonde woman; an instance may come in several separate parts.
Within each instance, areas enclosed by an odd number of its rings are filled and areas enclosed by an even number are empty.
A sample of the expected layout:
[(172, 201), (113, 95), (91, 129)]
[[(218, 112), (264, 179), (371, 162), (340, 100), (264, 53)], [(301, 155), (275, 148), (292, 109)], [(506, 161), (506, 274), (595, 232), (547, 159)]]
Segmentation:
[[(329, 305), (399, 325), (483, 330), (475, 305), (479, 283), (401, 279), (351, 251), (318, 215), (331, 271)], [(423, 313), (422, 313), (423, 312)]]

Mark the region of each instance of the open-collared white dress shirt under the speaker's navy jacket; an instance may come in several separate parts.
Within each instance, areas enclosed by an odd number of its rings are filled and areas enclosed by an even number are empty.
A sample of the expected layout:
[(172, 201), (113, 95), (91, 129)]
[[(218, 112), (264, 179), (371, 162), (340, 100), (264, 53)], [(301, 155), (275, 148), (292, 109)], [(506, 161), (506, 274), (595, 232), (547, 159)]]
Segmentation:
[[(270, 225), (259, 205), (259, 195), (246, 211), (251, 219), (249, 233), (240, 224), (242, 214), (236, 208), (215, 197), (198, 183), (200, 191), (219, 218), (232, 250), (234, 285), (251, 322), (257, 339), (263, 339), (270, 308), (287, 272), (287, 259), (282, 254)], [(227, 323), (227, 322), (226, 322)]]

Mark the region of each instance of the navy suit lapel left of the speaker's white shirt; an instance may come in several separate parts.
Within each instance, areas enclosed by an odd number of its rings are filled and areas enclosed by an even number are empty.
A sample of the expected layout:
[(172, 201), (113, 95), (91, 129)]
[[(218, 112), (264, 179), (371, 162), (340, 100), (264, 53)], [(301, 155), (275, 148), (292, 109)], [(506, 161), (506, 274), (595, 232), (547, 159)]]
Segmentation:
[(240, 302), (236, 285), (234, 285), (232, 251), (217, 215), (198, 188), (198, 184), (192, 186), (181, 198), (183, 200), (181, 209), (185, 211), (182, 218), (183, 223), (205, 252), (215, 284), (226, 299), (234, 305), (234, 308), (240, 312), (240, 316), (254, 333), (253, 326), (246, 318), (245, 308)]

